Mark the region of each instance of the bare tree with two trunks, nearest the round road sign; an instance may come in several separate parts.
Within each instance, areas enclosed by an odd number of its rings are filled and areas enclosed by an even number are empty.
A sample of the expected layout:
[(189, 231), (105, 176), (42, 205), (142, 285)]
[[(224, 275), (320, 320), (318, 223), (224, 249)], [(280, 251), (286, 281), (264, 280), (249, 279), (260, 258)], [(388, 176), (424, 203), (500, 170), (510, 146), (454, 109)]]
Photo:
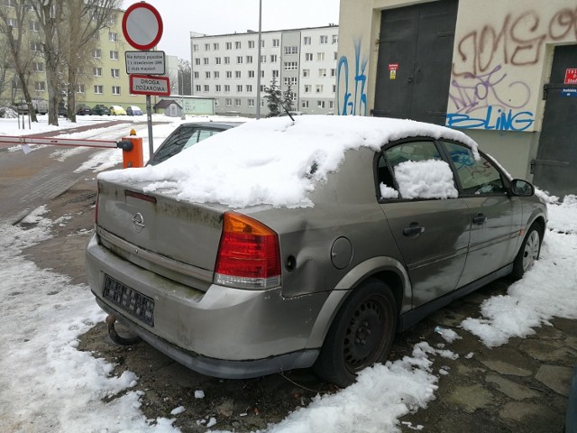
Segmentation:
[[(95, 34), (108, 25), (113, 9), (121, 0), (28, 0), (34, 5), (44, 33), (44, 60), (49, 98), (48, 123), (58, 124), (60, 83), (66, 83), (69, 110), (76, 105), (76, 88), (80, 65), (90, 56), (86, 50)], [(60, 67), (68, 69), (67, 79)], [(69, 111), (69, 114), (72, 114)]]

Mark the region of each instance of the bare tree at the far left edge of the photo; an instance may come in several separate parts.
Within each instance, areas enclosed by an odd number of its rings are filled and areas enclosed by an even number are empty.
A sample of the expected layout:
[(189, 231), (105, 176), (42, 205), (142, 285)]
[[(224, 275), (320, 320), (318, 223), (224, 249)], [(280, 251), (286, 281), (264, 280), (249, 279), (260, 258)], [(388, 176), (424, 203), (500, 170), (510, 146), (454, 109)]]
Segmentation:
[[(28, 88), (32, 75), (32, 50), (30, 45), (36, 44), (32, 38), (25, 38), (27, 18), (29, 17), (30, 5), (27, 0), (14, 0), (14, 8), (0, 8), (0, 34), (5, 36), (9, 57), (14, 66), (14, 88), (22, 89), (24, 101), (28, 105), (28, 113), (32, 122), (37, 122), (36, 112), (32, 105), (32, 96)], [(14, 12), (14, 14), (9, 14)], [(13, 93), (13, 103), (15, 94)]]

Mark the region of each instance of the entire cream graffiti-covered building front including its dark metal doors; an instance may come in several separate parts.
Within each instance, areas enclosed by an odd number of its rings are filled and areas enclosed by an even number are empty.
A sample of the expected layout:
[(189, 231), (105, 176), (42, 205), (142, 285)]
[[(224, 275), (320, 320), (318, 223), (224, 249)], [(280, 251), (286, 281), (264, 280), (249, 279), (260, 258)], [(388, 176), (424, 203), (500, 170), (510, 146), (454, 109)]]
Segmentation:
[(577, 194), (572, 0), (341, 0), (335, 109), (463, 130), (518, 178)]

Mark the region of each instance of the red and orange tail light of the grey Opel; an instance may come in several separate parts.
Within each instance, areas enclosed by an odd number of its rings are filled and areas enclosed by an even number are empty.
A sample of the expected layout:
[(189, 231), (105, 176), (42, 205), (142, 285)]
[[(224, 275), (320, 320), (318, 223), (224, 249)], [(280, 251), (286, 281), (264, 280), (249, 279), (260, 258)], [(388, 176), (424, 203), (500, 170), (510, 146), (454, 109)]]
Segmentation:
[(251, 217), (224, 213), (215, 283), (242, 289), (280, 284), (279, 235)]

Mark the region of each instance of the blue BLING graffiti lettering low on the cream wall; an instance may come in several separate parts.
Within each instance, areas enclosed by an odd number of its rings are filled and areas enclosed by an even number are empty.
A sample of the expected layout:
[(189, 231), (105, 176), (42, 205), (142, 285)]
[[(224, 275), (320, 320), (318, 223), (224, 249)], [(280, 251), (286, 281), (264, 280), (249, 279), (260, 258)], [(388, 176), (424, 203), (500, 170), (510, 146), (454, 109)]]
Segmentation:
[(493, 107), (488, 106), (484, 118), (473, 117), (464, 113), (447, 113), (446, 125), (454, 128), (472, 129), (482, 128), (496, 131), (525, 131), (535, 122), (534, 115), (530, 111), (519, 111), (513, 114), (513, 110), (497, 110), (496, 118), (493, 118)]

